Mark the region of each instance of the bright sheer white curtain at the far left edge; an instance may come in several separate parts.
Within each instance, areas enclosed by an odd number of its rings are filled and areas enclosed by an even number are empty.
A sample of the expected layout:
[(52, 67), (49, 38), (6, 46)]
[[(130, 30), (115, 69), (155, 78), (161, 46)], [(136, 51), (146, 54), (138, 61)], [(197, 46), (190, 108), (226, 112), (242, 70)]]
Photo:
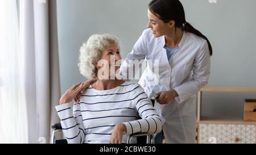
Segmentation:
[(28, 143), (16, 0), (0, 0), (0, 143)]

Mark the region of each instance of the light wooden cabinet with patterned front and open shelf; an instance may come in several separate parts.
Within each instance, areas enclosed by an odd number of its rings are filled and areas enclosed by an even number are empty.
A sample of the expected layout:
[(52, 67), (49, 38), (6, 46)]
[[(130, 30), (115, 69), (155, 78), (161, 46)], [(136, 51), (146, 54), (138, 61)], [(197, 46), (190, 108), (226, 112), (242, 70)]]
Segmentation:
[[(256, 122), (243, 118), (201, 116), (204, 91), (255, 92), (255, 87), (205, 86), (197, 94), (197, 143), (247, 144), (256, 143)], [(256, 97), (256, 95), (255, 95)]]

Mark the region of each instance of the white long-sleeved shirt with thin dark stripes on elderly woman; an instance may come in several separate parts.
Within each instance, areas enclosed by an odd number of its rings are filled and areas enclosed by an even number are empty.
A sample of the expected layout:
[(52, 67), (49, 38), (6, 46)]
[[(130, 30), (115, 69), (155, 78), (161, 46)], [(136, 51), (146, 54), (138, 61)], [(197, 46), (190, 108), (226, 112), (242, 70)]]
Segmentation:
[(109, 143), (113, 128), (119, 123), (127, 129), (122, 143), (132, 133), (162, 130), (160, 117), (137, 83), (125, 82), (110, 90), (89, 86), (81, 94), (80, 103), (61, 104), (56, 110), (68, 143)]

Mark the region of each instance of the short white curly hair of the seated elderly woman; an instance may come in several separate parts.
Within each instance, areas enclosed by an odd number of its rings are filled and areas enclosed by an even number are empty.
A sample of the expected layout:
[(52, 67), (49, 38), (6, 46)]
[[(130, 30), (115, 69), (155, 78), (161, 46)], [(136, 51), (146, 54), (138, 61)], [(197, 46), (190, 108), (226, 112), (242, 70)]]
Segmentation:
[(100, 60), (101, 52), (109, 47), (110, 43), (114, 43), (120, 48), (117, 36), (106, 33), (104, 35), (94, 34), (89, 37), (86, 43), (80, 48), (79, 70), (87, 79), (97, 77), (97, 69), (94, 62)]

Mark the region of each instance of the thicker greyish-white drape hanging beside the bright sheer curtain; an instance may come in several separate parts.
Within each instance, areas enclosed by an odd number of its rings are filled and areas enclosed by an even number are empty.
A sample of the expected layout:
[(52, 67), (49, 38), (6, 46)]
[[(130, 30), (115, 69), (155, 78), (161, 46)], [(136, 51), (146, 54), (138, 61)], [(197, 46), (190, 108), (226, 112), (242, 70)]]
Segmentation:
[(51, 124), (60, 122), (56, 1), (20, 0), (29, 143), (48, 143)]

